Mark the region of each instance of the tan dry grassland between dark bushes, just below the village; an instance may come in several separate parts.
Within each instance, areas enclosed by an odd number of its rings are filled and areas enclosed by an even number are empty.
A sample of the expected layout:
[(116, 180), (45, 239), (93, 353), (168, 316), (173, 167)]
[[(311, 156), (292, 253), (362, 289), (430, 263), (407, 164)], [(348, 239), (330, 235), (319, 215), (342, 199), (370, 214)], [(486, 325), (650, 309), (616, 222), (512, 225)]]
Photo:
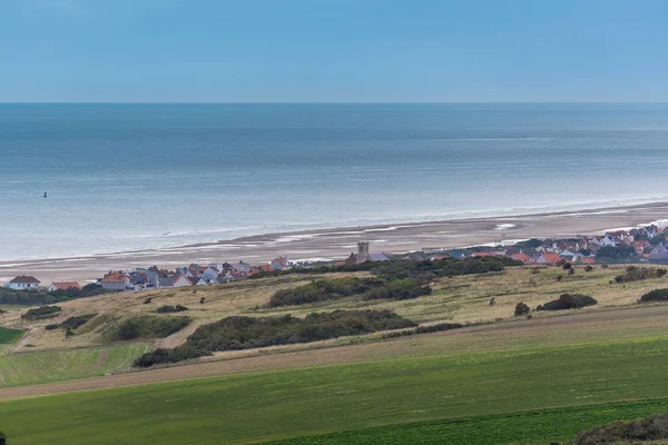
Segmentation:
[[(514, 306), (519, 301), (534, 308), (539, 304), (554, 299), (561, 294), (578, 293), (590, 295), (599, 301), (598, 306), (581, 310), (596, 312), (606, 307), (635, 304), (640, 295), (651, 289), (668, 287), (667, 278), (623, 285), (610, 284), (616, 275), (623, 271), (623, 266), (613, 266), (607, 269), (597, 267), (590, 273), (586, 273), (581, 267), (578, 267), (574, 275), (568, 275), (566, 270), (554, 267), (541, 268), (539, 274), (532, 274), (531, 269), (530, 267), (519, 267), (509, 268), (500, 274), (444, 278), (432, 286), (434, 289), (432, 295), (412, 300), (364, 301), (356, 297), (347, 297), (303, 306), (263, 308), (276, 290), (295, 287), (314, 279), (313, 276), (289, 275), (229, 285), (200, 286), (196, 289), (159, 289), (102, 295), (60, 304), (63, 308), (62, 314), (46, 322), (21, 320), (20, 313), (12, 312), (0, 315), (0, 324), (29, 330), (28, 335), (16, 347), (16, 352), (27, 350), (27, 344), (33, 345), (29, 350), (98, 346), (105, 344), (102, 334), (106, 329), (112, 328), (117, 319), (137, 314), (154, 313), (157, 307), (166, 304), (180, 304), (189, 308), (183, 315), (191, 317), (194, 323), (184, 332), (159, 340), (159, 346), (174, 347), (183, 343), (197, 326), (230, 315), (292, 314), (304, 316), (315, 310), (383, 308), (394, 310), (421, 324), (448, 320), (488, 323), (512, 318)], [(346, 274), (345, 276), (364, 275), (364, 273), (357, 273)], [(558, 275), (562, 276), (561, 281), (557, 281)], [(206, 299), (205, 304), (199, 304), (202, 297)], [(492, 297), (495, 299), (494, 306), (489, 304)], [(146, 298), (153, 298), (153, 301), (144, 304)], [(69, 339), (63, 338), (63, 333), (60, 329), (43, 329), (46, 324), (60, 323), (73, 315), (92, 313), (101, 314), (101, 316), (89, 322), (79, 330), (78, 335)], [(557, 315), (559, 314), (533, 314), (536, 318)], [(366, 340), (369, 339), (364, 339), (364, 342)], [(334, 345), (350, 343), (350, 339), (332, 340), (331, 343)], [(308, 348), (312, 347), (308, 346)]]

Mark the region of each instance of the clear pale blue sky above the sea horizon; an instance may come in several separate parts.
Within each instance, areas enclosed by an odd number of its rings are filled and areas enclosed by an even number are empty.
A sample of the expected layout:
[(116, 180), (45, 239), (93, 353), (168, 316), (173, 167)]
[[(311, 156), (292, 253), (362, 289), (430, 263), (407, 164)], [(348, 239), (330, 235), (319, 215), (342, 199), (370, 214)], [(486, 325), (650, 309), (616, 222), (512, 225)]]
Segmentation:
[(668, 101), (667, 0), (0, 0), (0, 102)]

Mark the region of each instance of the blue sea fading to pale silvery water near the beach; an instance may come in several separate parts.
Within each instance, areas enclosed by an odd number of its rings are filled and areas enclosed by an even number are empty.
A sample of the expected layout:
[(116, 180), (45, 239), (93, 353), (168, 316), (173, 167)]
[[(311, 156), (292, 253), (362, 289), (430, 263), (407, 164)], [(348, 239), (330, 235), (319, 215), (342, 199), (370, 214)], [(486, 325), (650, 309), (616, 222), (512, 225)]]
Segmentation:
[(664, 200), (667, 155), (668, 105), (6, 103), (0, 260)]

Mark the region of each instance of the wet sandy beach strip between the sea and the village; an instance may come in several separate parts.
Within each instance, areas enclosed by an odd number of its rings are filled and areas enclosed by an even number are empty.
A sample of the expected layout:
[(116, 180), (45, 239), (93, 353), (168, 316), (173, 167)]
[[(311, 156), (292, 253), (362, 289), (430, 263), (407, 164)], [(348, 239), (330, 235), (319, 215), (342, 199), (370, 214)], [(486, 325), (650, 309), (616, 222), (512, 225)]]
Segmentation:
[(190, 263), (233, 263), (239, 259), (262, 264), (277, 256), (287, 256), (292, 260), (343, 259), (356, 249), (356, 243), (361, 240), (370, 241), (372, 253), (399, 254), (422, 248), (458, 248), (527, 238), (592, 235), (664, 219), (668, 219), (668, 202), (274, 233), (170, 248), (0, 260), (0, 280), (29, 274), (43, 283), (56, 279), (85, 281), (111, 269), (153, 265), (174, 268)]

